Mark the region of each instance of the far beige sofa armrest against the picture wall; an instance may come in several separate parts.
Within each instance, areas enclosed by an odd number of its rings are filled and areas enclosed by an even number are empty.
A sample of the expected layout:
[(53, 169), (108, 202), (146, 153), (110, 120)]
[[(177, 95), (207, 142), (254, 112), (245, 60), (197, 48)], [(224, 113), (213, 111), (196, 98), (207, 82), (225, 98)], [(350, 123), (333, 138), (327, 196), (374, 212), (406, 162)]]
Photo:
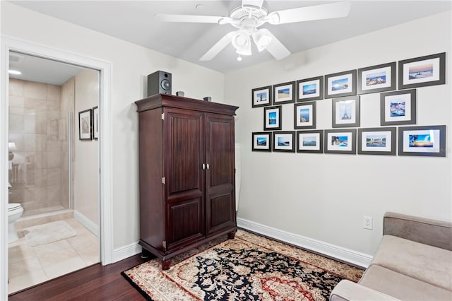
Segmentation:
[(393, 235), (452, 251), (452, 223), (441, 220), (386, 212), (383, 216), (383, 235)]

